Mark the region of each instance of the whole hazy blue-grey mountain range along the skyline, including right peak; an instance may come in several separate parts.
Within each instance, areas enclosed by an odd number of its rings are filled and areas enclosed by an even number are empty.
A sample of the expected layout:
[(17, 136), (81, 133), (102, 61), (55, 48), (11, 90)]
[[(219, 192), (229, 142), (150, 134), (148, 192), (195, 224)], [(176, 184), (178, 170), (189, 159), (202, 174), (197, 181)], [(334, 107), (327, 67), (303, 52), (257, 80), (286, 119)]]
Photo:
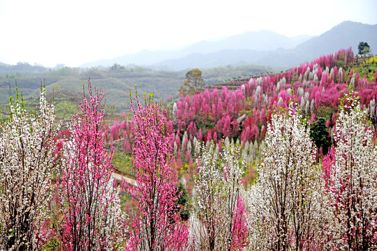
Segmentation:
[(184, 70), (255, 63), (288, 68), (350, 46), (357, 54), (360, 41), (367, 42), (372, 52), (377, 50), (377, 24), (346, 21), (316, 37), (303, 35), (288, 38), (273, 31), (249, 31), (217, 40), (201, 41), (182, 50), (142, 50), (136, 54), (85, 63), (82, 67), (112, 66), (119, 63), (161, 70)]

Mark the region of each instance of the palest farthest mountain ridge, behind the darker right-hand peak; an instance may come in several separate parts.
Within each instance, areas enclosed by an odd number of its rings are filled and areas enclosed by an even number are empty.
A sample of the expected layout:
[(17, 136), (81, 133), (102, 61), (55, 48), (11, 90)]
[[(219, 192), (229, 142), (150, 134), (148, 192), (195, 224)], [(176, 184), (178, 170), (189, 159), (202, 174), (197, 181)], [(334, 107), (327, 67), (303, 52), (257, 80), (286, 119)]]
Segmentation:
[[(114, 59), (103, 59), (100, 61), (94, 61), (89, 63), (84, 63), (81, 67), (93, 67), (93, 66), (112, 66), (114, 63), (119, 63), (121, 65), (136, 64), (141, 66), (154, 66), (161, 67), (166, 66), (166, 68), (182, 70), (187, 67), (191, 67), (193, 63), (202, 60), (208, 60), (208, 63), (203, 62), (207, 65), (207, 68), (215, 66), (223, 66), (229, 63), (220, 63), (216, 65), (216, 61), (226, 61), (226, 62), (237, 62), (243, 61), (244, 59), (235, 60), (235, 56), (230, 56), (228, 52), (230, 50), (248, 50), (247, 54), (253, 54), (251, 51), (258, 51), (258, 56), (252, 56), (251, 59), (246, 61), (253, 61), (259, 59), (262, 56), (262, 52), (265, 53), (267, 50), (276, 50), (278, 48), (292, 49), (293, 47), (299, 45), (313, 38), (313, 36), (297, 36), (293, 38), (288, 38), (287, 36), (280, 35), (273, 31), (249, 31), (236, 36), (228, 36), (225, 38), (220, 38), (217, 40), (200, 41), (193, 45), (184, 47), (182, 50), (174, 51), (149, 51), (142, 50), (141, 52), (135, 54), (126, 54), (124, 56), (119, 56)], [(216, 52), (216, 54), (214, 54)], [(213, 57), (221, 57), (221, 52), (224, 52), (224, 59), (214, 60)], [(202, 56), (202, 54), (210, 54), (209, 56)], [(237, 52), (237, 54), (242, 55), (242, 52)], [(231, 58), (228, 58), (228, 56)], [(209, 57), (210, 59), (207, 59)], [(177, 67), (175, 63), (179, 60), (192, 60), (191, 62), (180, 62), (179, 65), (182, 67)], [(213, 62), (213, 63), (210, 63)], [(188, 65), (187, 67), (185, 67)], [(196, 66), (199, 67), (199, 66)]]

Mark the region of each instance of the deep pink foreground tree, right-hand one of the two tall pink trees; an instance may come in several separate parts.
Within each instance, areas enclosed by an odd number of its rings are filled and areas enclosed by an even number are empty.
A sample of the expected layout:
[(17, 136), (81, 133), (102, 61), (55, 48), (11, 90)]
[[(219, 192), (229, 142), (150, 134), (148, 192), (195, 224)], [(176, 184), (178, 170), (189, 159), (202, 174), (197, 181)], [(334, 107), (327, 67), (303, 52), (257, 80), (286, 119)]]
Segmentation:
[(170, 165), (173, 135), (168, 133), (161, 107), (150, 97), (145, 98), (145, 107), (138, 96), (136, 104), (131, 98), (130, 108), (135, 118), (132, 172), (137, 174), (137, 185), (128, 185), (128, 192), (137, 208), (131, 215), (127, 249), (182, 250), (188, 228), (175, 206), (180, 195), (176, 194), (177, 174)]

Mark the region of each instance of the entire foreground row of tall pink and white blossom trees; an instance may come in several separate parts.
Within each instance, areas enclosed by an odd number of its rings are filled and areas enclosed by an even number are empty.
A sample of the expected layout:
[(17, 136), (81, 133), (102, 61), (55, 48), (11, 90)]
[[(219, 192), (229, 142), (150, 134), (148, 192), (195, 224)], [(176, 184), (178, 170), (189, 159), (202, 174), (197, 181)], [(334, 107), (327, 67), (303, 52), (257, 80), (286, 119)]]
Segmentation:
[(276, 107), (249, 190), (241, 147), (202, 143), (188, 222), (176, 203), (177, 137), (160, 104), (131, 103), (136, 183), (126, 185), (135, 205), (128, 218), (112, 183), (103, 92), (88, 83), (81, 114), (69, 123), (71, 140), (63, 142), (55, 140), (59, 126), (45, 91), (34, 114), (17, 96), (1, 124), (0, 248), (40, 250), (56, 240), (61, 250), (374, 250), (377, 150), (356, 95), (344, 95), (334, 148), (322, 163), (300, 106), (291, 97)]

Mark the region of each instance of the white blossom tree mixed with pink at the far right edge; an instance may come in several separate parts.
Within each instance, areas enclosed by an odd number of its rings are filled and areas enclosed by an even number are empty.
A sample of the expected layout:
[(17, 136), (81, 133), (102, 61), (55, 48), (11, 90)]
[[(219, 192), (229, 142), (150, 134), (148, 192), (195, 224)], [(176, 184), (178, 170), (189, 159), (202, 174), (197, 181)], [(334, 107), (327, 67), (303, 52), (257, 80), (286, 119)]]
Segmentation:
[(377, 149), (367, 112), (356, 95), (346, 93), (341, 100), (336, 147), (323, 161), (334, 217), (329, 234), (334, 249), (376, 250)]

